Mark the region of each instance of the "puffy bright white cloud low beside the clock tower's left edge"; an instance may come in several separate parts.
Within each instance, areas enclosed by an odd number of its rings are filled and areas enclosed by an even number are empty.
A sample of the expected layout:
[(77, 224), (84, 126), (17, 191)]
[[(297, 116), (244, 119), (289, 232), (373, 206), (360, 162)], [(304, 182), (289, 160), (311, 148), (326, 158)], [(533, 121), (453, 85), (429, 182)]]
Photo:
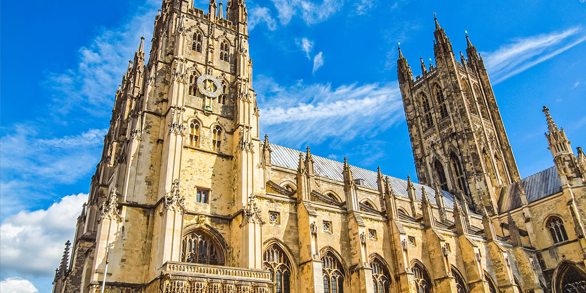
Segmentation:
[[(46, 210), (22, 210), (0, 225), (0, 271), (52, 277), (87, 194), (65, 196)], [(5, 292), (2, 290), (2, 292)]]

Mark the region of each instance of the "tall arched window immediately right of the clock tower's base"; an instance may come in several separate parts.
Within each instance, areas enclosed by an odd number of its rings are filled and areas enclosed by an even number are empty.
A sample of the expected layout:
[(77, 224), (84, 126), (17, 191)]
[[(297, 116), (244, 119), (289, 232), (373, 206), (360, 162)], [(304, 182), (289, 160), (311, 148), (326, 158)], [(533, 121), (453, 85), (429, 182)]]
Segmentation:
[(263, 254), (263, 268), (271, 272), (271, 281), (275, 286), (271, 293), (291, 292), (291, 262), (277, 244), (269, 246)]

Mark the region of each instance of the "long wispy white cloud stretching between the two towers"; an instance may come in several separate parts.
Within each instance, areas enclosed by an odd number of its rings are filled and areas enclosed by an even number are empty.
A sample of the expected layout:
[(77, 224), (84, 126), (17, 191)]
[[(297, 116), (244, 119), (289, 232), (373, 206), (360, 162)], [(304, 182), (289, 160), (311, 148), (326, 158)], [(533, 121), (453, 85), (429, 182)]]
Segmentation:
[[(304, 84), (283, 87), (258, 76), (263, 131), (275, 141), (296, 145), (325, 139), (351, 141), (372, 137), (403, 120), (401, 96), (394, 83)], [(384, 121), (381, 123), (380, 121)]]

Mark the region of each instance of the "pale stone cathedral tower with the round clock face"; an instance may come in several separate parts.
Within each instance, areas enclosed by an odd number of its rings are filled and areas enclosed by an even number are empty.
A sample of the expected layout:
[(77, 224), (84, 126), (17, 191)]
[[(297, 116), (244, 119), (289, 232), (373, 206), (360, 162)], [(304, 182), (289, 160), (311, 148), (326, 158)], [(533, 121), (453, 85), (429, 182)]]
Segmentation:
[[(57, 291), (92, 291), (105, 280), (147, 284), (185, 270), (173, 262), (192, 258), (241, 268), (225, 274), (266, 287), (268, 275), (258, 271), (254, 195), (264, 190), (264, 173), (245, 2), (228, 1), (226, 17), (215, 0), (209, 13), (193, 0), (163, 1), (148, 63), (143, 38), (116, 93), (79, 217), (73, 271)], [(216, 275), (218, 284), (223, 277)]]

